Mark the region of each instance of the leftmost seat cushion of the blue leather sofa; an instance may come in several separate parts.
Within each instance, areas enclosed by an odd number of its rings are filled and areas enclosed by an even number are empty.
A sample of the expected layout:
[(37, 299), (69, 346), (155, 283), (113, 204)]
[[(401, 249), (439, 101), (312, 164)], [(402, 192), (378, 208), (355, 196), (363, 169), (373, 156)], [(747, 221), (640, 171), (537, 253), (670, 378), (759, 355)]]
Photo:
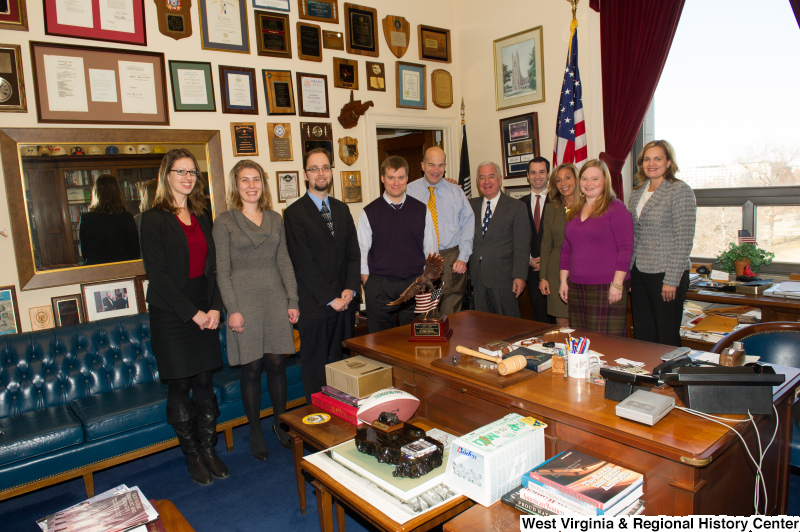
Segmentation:
[(0, 419), (0, 466), (83, 443), (83, 427), (67, 405)]

